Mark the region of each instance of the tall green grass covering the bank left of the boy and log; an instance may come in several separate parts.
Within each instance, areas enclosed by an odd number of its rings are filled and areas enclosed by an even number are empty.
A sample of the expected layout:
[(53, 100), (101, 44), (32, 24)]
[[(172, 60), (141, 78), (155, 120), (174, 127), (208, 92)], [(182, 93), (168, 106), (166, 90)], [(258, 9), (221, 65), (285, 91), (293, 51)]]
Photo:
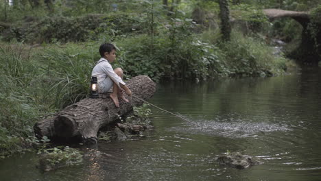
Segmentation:
[(32, 49), (1, 43), (1, 157), (23, 151), (25, 139), (33, 136), (32, 127), (43, 115), (87, 97), (97, 60), (91, 46), (67, 44)]

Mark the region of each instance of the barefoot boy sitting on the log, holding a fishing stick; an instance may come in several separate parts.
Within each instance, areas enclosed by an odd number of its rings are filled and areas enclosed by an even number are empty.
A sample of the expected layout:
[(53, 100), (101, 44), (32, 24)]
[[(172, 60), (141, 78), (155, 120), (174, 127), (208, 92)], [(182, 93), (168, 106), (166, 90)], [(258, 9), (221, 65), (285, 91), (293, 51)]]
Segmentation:
[(131, 96), (132, 91), (123, 82), (123, 70), (121, 68), (112, 69), (110, 63), (116, 59), (116, 47), (110, 43), (103, 43), (99, 47), (99, 53), (102, 58), (99, 59), (91, 76), (97, 77), (98, 82), (98, 93), (107, 93), (112, 87), (112, 93), (110, 98), (114, 101), (115, 106), (119, 108), (118, 96), (126, 102), (128, 99), (122, 93), (121, 88), (126, 91), (126, 94)]

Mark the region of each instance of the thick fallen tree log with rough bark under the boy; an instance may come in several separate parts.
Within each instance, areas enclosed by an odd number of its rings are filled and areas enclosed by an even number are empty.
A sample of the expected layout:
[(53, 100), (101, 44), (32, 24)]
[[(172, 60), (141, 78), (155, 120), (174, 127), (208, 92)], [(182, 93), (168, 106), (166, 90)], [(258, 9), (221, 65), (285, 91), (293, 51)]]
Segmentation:
[[(97, 99), (86, 98), (67, 106), (53, 117), (39, 121), (34, 125), (36, 136), (49, 138), (80, 137), (84, 143), (97, 143), (99, 128), (115, 122), (119, 117), (130, 112), (133, 106), (140, 106), (156, 91), (156, 84), (147, 75), (139, 75), (127, 83), (133, 97), (127, 97), (129, 103), (120, 100), (117, 108), (108, 94)], [(127, 95), (126, 95), (127, 96)], [(137, 99), (136, 97), (139, 97)]]

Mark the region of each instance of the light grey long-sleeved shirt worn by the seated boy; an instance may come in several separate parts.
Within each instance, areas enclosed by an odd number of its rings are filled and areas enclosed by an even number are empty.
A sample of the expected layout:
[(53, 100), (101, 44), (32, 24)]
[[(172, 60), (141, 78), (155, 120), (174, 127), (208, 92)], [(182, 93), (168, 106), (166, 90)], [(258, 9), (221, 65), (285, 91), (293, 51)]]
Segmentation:
[[(112, 69), (111, 64), (106, 60), (106, 58), (100, 58), (95, 67), (93, 68), (93, 71), (91, 72), (91, 76), (97, 77), (98, 84), (99, 82), (104, 82), (108, 77), (112, 80), (112, 82), (115, 82), (117, 86), (120, 84), (126, 85), (123, 80), (121, 80), (121, 77), (119, 77), (114, 69)], [(120, 88), (120, 86), (119, 86)]]

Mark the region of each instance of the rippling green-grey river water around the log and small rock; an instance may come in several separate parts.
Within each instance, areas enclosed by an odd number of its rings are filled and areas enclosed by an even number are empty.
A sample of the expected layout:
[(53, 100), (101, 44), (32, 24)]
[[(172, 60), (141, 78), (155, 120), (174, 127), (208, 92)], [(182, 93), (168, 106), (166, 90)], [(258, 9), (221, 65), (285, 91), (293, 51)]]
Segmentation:
[[(290, 75), (158, 85), (154, 130), (90, 149), (83, 165), (42, 173), (34, 153), (0, 160), (0, 180), (321, 180), (321, 69)], [(263, 162), (218, 165), (225, 152)]]

